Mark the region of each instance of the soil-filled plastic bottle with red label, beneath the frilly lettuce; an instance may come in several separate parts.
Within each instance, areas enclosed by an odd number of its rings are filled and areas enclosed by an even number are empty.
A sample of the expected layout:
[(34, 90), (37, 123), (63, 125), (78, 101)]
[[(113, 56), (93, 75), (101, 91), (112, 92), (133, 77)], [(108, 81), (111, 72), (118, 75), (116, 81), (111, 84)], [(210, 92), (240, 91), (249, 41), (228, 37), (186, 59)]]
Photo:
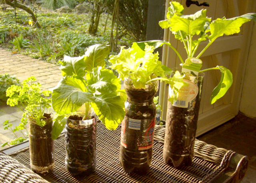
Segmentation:
[(120, 163), (126, 173), (144, 174), (152, 160), (156, 106), (153, 97), (158, 81), (146, 89), (136, 89), (131, 80), (124, 82), (128, 96), (122, 121)]

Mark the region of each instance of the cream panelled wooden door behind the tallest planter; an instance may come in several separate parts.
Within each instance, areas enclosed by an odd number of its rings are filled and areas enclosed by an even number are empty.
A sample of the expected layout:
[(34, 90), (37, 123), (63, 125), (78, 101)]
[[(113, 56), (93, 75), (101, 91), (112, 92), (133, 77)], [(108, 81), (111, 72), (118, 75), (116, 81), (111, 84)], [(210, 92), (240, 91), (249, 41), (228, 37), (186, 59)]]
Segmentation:
[[(256, 0), (205, 0), (210, 7), (198, 7), (191, 5), (186, 7), (186, 0), (178, 0), (184, 6), (184, 14), (194, 14), (202, 8), (207, 9), (207, 16), (212, 20), (216, 18), (232, 18), (251, 12), (252, 6), (256, 5)], [(169, 6), (166, 2), (166, 8)], [(199, 0), (200, 3), (204, 2)], [(219, 37), (200, 57), (203, 61), (202, 69), (222, 65), (230, 69), (233, 74), (233, 84), (224, 97), (216, 103), (210, 104), (211, 92), (220, 81), (220, 71), (205, 72), (202, 100), (200, 104), (200, 115), (198, 120), (197, 136), (223, 124), (234, 118), (238, 114), (238, 107), (242, 91), (242, 80), (248, 55), (250, 37), (252, 33), (252, 22), (244, 24), (241, 32), (237, 35)], [(186, 59), (186, 51), (180, 41), (174, 39), (169, 30), (164, 31), (164, 40), (170, 43), (181, 53), (182, 58)], [(201, 48), (206, 46), (206, 42), (201, 43)], [(202, 49), (198, 49), (202, 50)], [(177, 67), (180, 61), (174, 51), (164, 46), (162, 62), (170, 67)], [(166, 119), (168, 87), (160, 86), (160, 104), (164, 108), (162, 118)]]

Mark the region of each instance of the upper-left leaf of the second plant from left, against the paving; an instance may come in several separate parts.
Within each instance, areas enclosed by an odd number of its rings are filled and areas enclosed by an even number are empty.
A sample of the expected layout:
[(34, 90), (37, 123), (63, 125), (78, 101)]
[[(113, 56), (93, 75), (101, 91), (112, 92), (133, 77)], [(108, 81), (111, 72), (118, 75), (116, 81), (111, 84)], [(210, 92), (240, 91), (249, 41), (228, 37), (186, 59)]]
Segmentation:
[(61, 63), (61, 73), (62, 76), (72, 76), (77, 75), (80, 77), (84, 77), (86, 63), (84, 62), (84, 57), (69, 57), (64, 55), (63, 61), (59, 61)]

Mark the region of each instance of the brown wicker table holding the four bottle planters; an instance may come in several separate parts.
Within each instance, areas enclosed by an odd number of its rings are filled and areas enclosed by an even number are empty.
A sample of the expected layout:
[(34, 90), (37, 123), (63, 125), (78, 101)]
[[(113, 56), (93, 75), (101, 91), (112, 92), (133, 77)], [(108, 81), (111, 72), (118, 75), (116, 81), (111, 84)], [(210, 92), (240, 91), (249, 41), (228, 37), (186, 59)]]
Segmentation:
[(240, 182), (248, 159), (235, 152), (217, 148), (202, 141), (195, 143), (195, 156), (189, 167), (175, 169), (162, 158), (164, 128), (157, 126), (152, 164), (146, 175), (127, 175), (119, 163), (120, 127), (107, 130), (97, 126), (97, 167), (92, 175), (75, 178), (65, 169), (64, 135), (55, 144), (55, 168), (52, 174), (40, 177), (30, 170), (28, 147), (16, 152), (0, 152), (0, 182), (2, 183), (204, 183)]

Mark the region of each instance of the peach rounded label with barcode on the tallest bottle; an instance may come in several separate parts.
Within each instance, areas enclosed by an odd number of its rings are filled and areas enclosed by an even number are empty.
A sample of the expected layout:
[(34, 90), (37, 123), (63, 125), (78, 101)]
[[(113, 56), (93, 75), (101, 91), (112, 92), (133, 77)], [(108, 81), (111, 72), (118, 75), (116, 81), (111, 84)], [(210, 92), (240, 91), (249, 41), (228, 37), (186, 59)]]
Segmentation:
[[(187, 83), (188, 86), (182, 86), (180, 91), (178, 92), (178, 97), (176, 102), (172, 104), (172, 106), (188, 108), (188, 103), (194, 100), (198, 94), (198, 86), (189, 80), (183, 80), (184, 83)], [(169, 95), (173, 94), (171, 88), (169, 88)]]

